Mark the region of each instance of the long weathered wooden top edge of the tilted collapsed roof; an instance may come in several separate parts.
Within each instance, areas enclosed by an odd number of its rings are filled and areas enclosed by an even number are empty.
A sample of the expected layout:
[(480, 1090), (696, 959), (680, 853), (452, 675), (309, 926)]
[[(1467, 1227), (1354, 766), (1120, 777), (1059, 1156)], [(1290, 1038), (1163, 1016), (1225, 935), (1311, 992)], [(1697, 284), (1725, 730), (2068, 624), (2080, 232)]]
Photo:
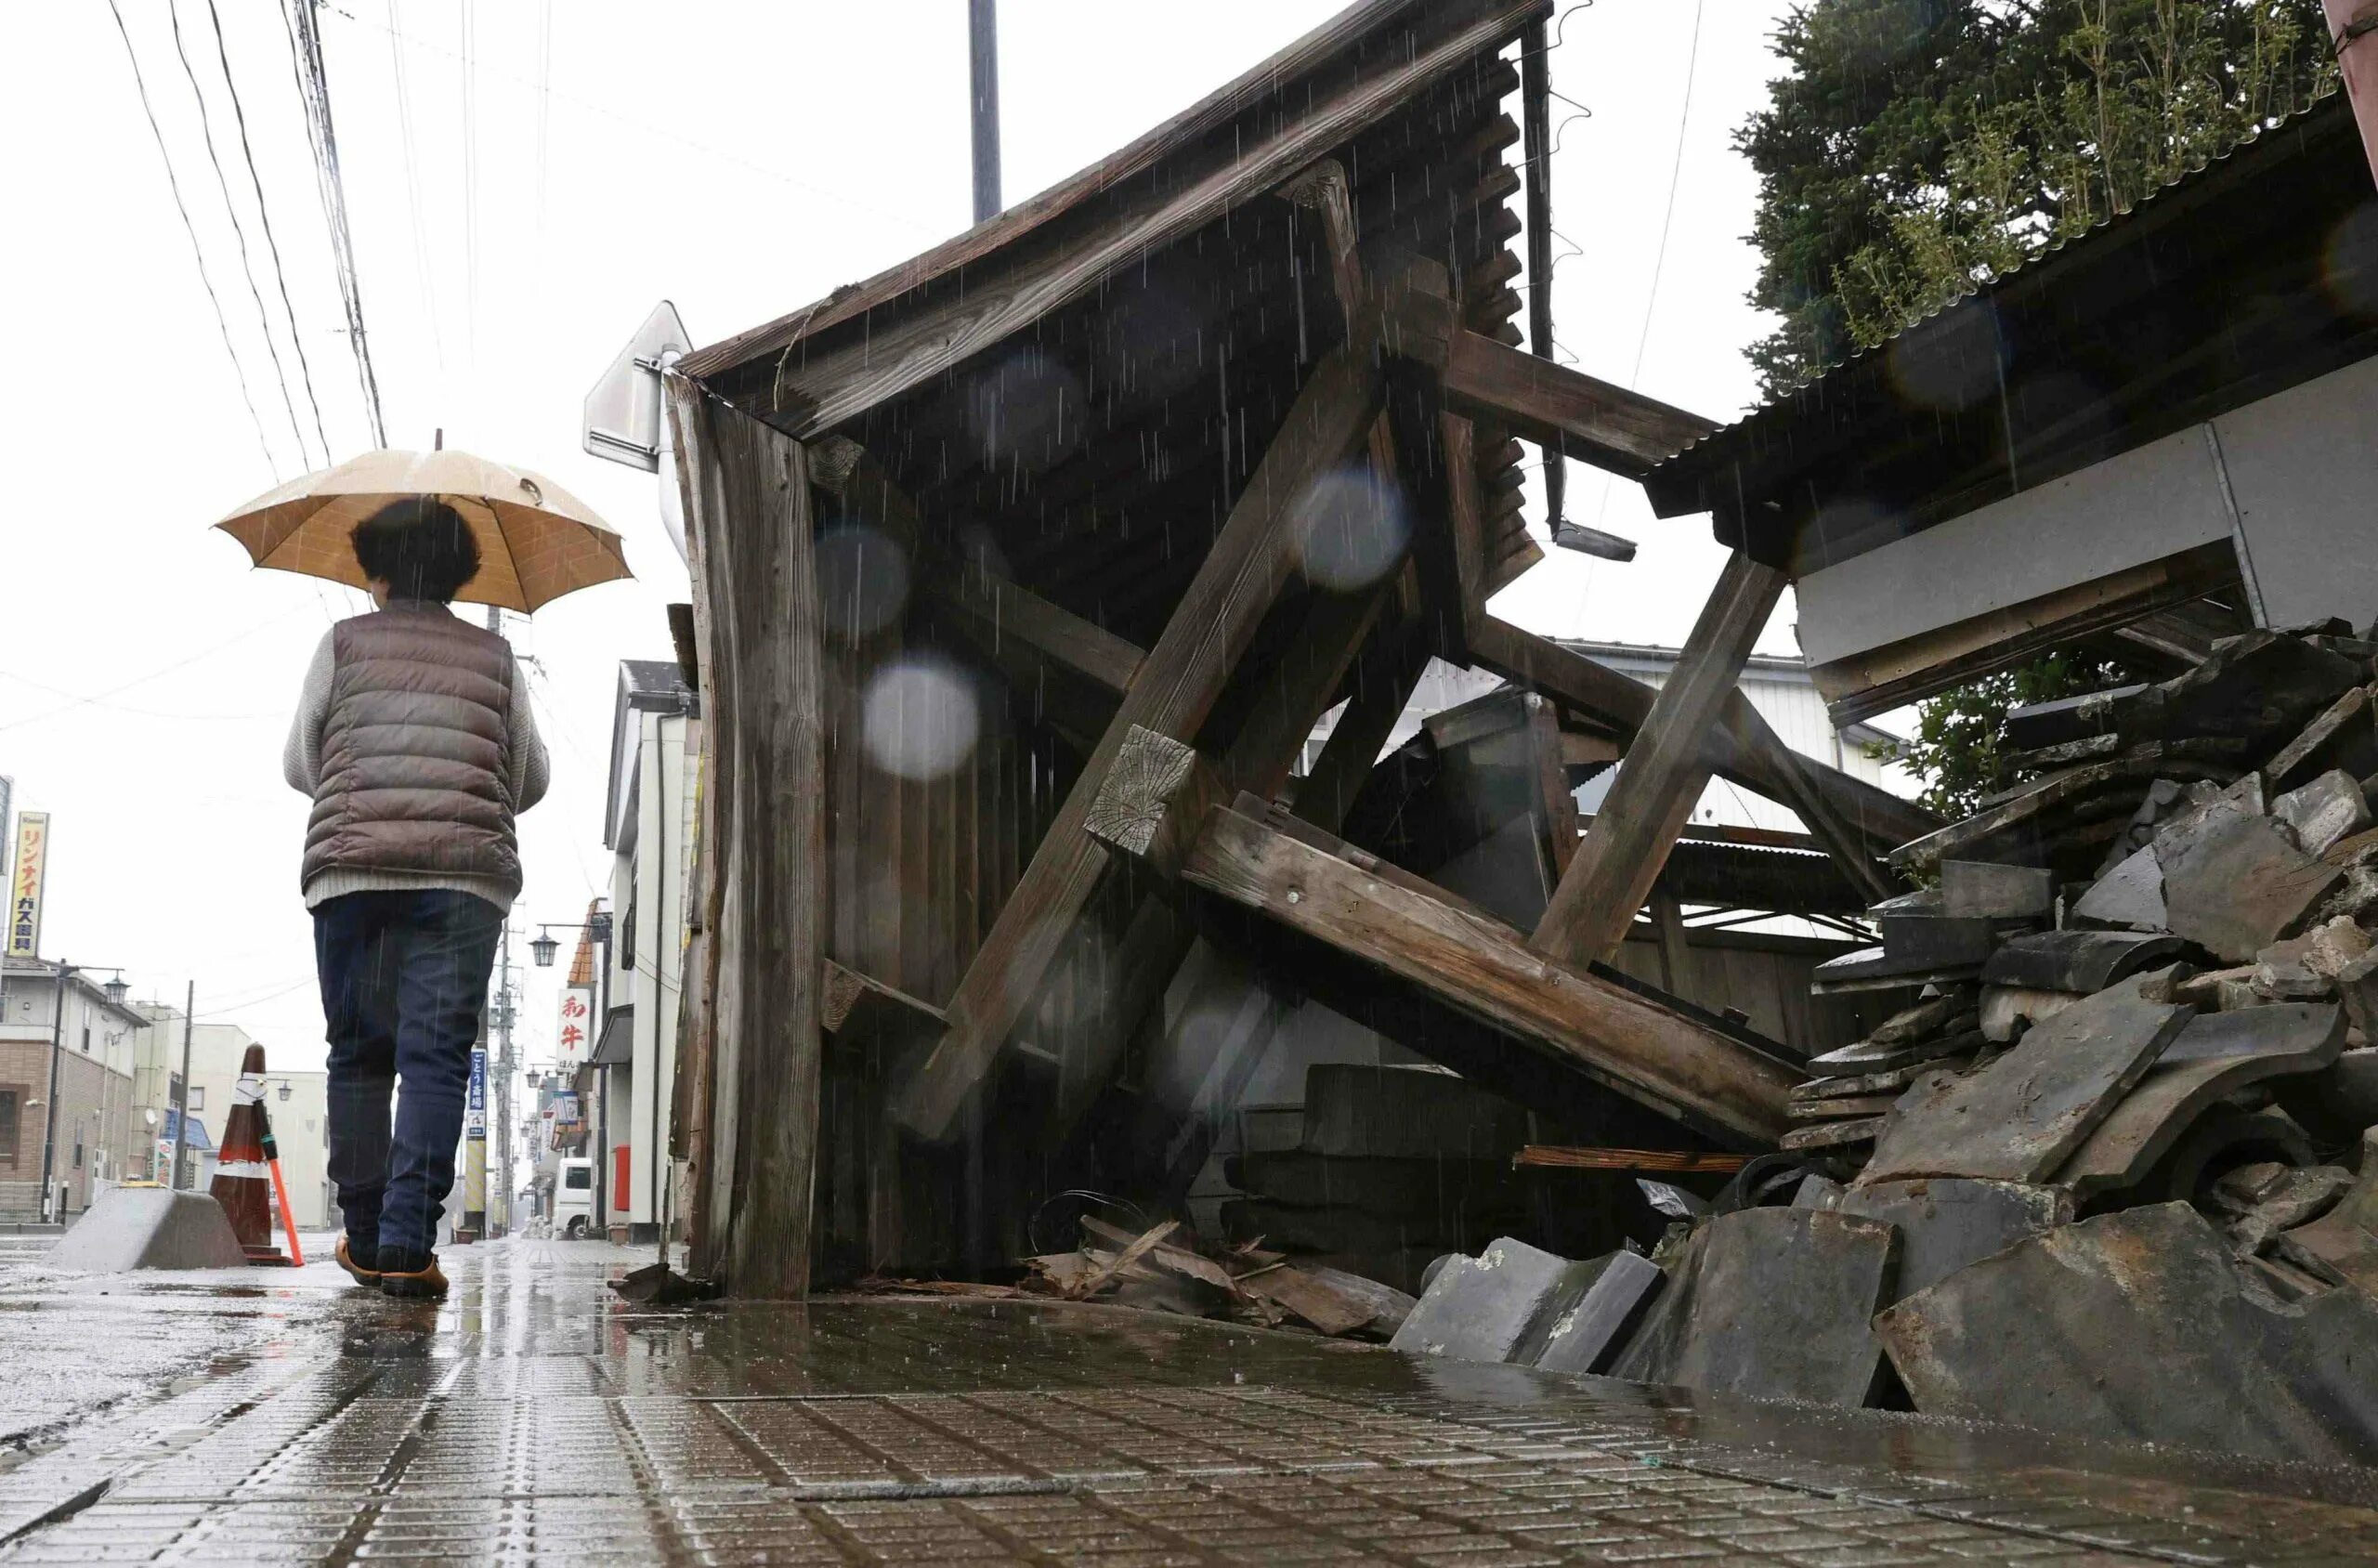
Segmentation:
[[(1446, 5), (1441, 0), (1355, 0), (1355, 5), (1348, 5), (1329, 21), (1320, 24), (1253, 69), (1239, 74), (1227, 86), (1208, 93), (1191, 107), (1165, 119), (1120, 150), (1108, 152), (1056, 186), (1049, 186), (1039, 195), (1032, 195), (996, 217), (951, 236), (932, 250), (908, 257), (897, 266), (887, 266), (863, 283), (844, 283), (823, 300), (816, 300), (797, 312), (787, 312), (773, 321), (735, 333), (732, 338), (699, 347), (687, 355), (678, 369), (694, 381), (706, 381), (740, 369), (763, 355), (782, 352), (804, 338), (839, 326), (842, 321), (851, 321), (870, 309), (889, 305), (906, 293), (913, 293), (1039, 233), (1046, 224), (1075, 212), (1113, 186), (1153, 169), (1172, 152), (1196, 145), (1206, 133), (1229, 124), (1251, 105), (1286, 93), (1296, 81), (1313, 76), (1344, 52), (1363, 45), (1374, 33), (1396, 26), (1405, 17), (1427, 12), (1432, 24), (1453, 26), (1458, 17), (1448, 21), (1448, 14), (1458, 10), (1489, 12), (1493, 10), (1493, 0), (1460, 0), (1460, 5)], [(1546, 17), (1550, 10), (1550, 0), (1536, 0), (1529, 5), (1527, 17), (1512, 26), (1512, 36), (1517, 36), (1527, 19)]]

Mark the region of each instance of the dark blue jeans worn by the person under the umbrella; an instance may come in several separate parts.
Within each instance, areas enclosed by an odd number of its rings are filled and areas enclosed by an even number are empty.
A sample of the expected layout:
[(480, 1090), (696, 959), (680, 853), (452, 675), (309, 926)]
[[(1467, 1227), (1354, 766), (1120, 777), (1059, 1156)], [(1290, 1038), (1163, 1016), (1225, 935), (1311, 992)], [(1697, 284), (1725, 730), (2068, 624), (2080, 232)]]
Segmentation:
[(373, 1259), (426, 1268), (438, 1244), (502, 935), (495, 904), (445, 888), (350, 892), (314, 909), (331, 1026), (331, 1183), (347, 1213), (347, 1252), (366, 1268)]

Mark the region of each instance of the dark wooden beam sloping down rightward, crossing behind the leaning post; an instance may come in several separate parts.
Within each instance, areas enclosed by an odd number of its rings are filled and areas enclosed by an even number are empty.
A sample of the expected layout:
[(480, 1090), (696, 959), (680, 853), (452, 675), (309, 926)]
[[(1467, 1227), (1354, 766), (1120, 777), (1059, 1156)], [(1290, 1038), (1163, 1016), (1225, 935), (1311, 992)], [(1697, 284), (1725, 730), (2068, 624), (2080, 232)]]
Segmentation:
[[(1650, 719), (1650, 704), (1657, 697), (1650, 685), (1596, 664), (1550, 638), (1520, 631), (1498, 616), (1474, 621), (1470, 657), (1629, 740)], [(1803, 769), (1810, 788), (1833, 807), (1869, 852), (1898, 847), (1940, 826), (1938, 816), (1914, 802), (1862, 778), (1850, 778), (1841, 769), (1795, 757), (1741, 692), (1726, 700), (1724, 733), (1712, 735), (1712, 747), (1710, 764), (1719, 778), (1786, 804), (1795, 790), (1791, 769)]]

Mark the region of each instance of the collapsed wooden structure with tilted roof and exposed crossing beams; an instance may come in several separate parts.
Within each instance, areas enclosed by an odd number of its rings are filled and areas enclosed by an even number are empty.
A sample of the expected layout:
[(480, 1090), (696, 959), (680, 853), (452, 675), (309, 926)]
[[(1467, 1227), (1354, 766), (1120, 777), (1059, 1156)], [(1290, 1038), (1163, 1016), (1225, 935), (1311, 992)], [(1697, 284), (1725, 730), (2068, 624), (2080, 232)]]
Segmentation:
[[(1084, 1168), (1172, 1192), (1296, 995), (1584, 1116), (1786, 1128), (1786, 1052), (1605, 961), (1712, 773), (1791, 807), (1857, 902), (1931, 823), (1738, 695), (1769, 566), (1726, 566), (1657, 692), (1484, 609), (1539, 559), (1527, 445), (1641, 478), (1712, 428), (1520, 347), (1548, 10), (1363, 0), (678, 366), (699, 1271), (797, 1294), (813, 1259), (999, 1261)], [(1572, 826), (1534, 930), (1341, 838), (1429, 657), (1541, 697)], [(1579, 735), (1627, 761), (1584, 838)]]

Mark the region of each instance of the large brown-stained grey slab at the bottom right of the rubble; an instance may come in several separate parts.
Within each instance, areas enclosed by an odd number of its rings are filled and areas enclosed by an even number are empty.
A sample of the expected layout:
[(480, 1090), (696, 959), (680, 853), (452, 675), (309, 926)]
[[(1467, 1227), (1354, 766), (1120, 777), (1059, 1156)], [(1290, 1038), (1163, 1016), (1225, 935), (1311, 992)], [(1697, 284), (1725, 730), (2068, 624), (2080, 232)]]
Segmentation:
[(1926, 1413), (2378, 1461), (2378, 1299), (2330, 1290), (2278, 1306), (2188, 1204), (2059, 1225), (1907, 1297), (1874, 1330)]

